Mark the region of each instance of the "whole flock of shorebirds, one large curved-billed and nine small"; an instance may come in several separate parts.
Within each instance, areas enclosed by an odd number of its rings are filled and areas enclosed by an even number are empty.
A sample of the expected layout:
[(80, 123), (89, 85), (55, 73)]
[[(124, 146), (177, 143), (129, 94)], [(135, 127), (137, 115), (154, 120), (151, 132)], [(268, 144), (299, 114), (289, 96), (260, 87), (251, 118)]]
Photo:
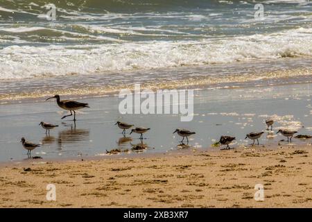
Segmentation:
[[(66, 118), (66, 117), (70, 117), (73, 115), (73, 121), (76, 121), (76, 110), (80, 110), (82, 108), (89, 108), (89, 104), (88, 103), (80, 103), (77, 101), (72, 101), (72, 100), (60, 100), (60, 96), (59, 95), (55, 95), (52, 96), (49, 99), (56, 99), (56, 102), (58, 103), (58, 106), (64, 110), (68, 110), (70, 111), (71, 114), (69, 115), (65, 115), (64, 117), (62, 117), (62, 119)], [(266, 125), (268, 126), (266, 130), (272, 130), (273, 127), (273, 123), (274, 120), (272, 119), (267, 119), (266, 120)], [(51, 123), (45, 123), (44, 121), (40, 122), (39, 124), (40, 126), (42, 126), (42, 128), (44, 128), (46, 130), (46, 134), (50, 133), (50, 130), (58, 127), (58, 125), (55, 124), (51, 124)], [(128, 123), (123, 123), (121, 121), (117, 121), (115, 123), (115, 125), (117, 125), (119, 128), (121, 128), (122, 134), (123, 136), (125, 136), (125, 130), (128, 130), (132, 127), (134, 127), (134, 125), (132, 124), (128, 124)], [(139, 139), (142, 140), (143, 139), (143, 134), (146, 133), (148, 130), (150, 130), (150, 128), (144, 128), (144, 127), (135, 127), (132, 128), (132, 130), (130, 131), (130, 135), (132, 133), (138, 133), (140, 134)], [(176, 129), (173, 133), (177, 133), (177, 135), (180, 135), (180, 137), (182, 137), (182, 141), (180, 142), (181, 144), (183, 144), (184, 138), (187, 138), (187, 144), (189, 144), (189, 136), (196, 134), (195, 132), (192, 132), (190, 130), (185, 130), (185, 129)], [(246, 135), (245, 139), (249, 138), (253, 140), (253, 144), (255, 143), (255, 141), (257, 140), (258, 145), (259, 145), (259, 138), (261, 137), (261, 135), (263, 135), (263, 131), (259, 132), (259, 133), (249, 133), (248, 135)], [(278, 130), (277, 133), (281, 133), (281, 135), (284, 135), (284, 137), (287, 137), (287, 142), (291, 141), (291, 139), (293, 138), (293, 135), (295, 133), (297, 133), (297, 131), (295, 130)], [(226, 148), (224, 149), (230, 149), (229, 144), (231, 144), (234, 139), (236, 139), (235, 137), (231, 137), (231, 136), (224, 136), (222, 135), (220, 137), (219, 142), (217, 142), (217, 144), (221, 144), (221, 145), (227, 145)], [(28, 151), (28, 155), (31, 155), (31, 151), (33, 151), (33, 149), (35, 149), (36, 147), (40, 146), (40, 144), (34, 144), (32, 142), (28, 142), (26, 141), (26, 139), (24, 137), (21, 138), (21, 144), (24, 146), (24, 148), (26, 148), (26, 150)]]

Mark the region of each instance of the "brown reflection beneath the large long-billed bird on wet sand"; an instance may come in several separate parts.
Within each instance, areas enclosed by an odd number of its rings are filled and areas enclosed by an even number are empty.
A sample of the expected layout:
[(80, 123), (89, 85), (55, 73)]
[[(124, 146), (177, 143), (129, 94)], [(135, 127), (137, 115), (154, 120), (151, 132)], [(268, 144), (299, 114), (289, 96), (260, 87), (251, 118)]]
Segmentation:
[(75, 144), (82, 141), (89, 141), (89, 129), (77, 129), (76, 122), (74, 122), (74, 124), (62, 122), (62, 124), (63, 126), (70, 126), (70, 128), (58, 133), (59, 149), (62, 149), (62, 144)]

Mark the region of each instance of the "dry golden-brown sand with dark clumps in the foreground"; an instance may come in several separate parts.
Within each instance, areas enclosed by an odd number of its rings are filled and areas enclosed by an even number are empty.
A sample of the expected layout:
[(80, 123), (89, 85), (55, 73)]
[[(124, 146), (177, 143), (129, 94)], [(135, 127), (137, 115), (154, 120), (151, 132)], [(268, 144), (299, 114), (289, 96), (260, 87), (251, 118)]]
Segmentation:
[[(0, 168), (1, 207), (312, 207), (311, 146)], [(123, 157), (126, 157), (124, 155)], [(24, 171), (25, 168), (31, 171)], [(46, 185), (56, 201), (46, 200)], [(254, 200), (254, 185), (264, 200)]]

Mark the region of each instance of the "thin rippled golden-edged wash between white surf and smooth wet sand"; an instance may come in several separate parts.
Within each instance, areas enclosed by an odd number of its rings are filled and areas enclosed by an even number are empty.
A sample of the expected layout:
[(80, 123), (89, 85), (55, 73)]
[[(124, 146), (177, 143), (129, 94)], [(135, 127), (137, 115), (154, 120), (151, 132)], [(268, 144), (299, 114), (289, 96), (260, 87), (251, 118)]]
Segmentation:
[[(229, 65), (231, 71), (226, 71), (227, 65), (195, 65), (189, 67), (171, 67), (166, 70), (152, 69), (152, 70), (137, 70), (137, 71), (121, 71), (115, 74), (94, 74), (94, 75), (73, 75), (67, 76), (68, 80), (62, 83), (59, 78), (64, 76), (54, 76), (49, 78), (26, 78), (21, 80), (0, 80), (0, 86), (3, 85), (3, 92), (0, 91), (0, 104), (12, 103), (29, 103), (38, 102), (40, 99), (52, 94), (60, 94), (70, 96), (73, 99), (92, 99), (97, 97), (118, 96), (121, 89), (129, 88), (132, 90), (135, 83), (141, 84), (141, 89), (243, 89), (249, 87), (266, 87), (268, 85), (291, 85), (311, 83), (309, 76), (311, 76), (311, 68), (306, 65), (304, 67), (292, 66), (288, 63), (292, 59), (268, 60), (272, 62), (271, 69), (262, 67), (263, 71), (254, 69), (255, 65), (261, 65), (264, 61), (248, 62), (234, 62)], [(311, 62), (311, 58), (295, 58), (295, 61), (303, 60)], [(258, 64), (259, 63), (259, 64)], [(280, 63), (280, 64), (279, 64)], [(304, 64), (305, 64), (304, 63)], [(211, 70), (210, 70), (211, 69)], [(159, 78), (150, 81), (145, 75), (149, 72), (155, 72)], [(172, 77), (167, 79), (168, 73), (172, 73)], [(191, 77), (189, 76), (190, 74)], [(218, 74), (218, 76), (216, 76)], [(116, 75), (121, 75), (125, 80), (116, 79)], [(139, 78), (137, 78), (137, 77)], [(144, 77), (145, 76), (145, 77)], [(141, 79), (142, 78), (142, 79)], [(24, 83), (26, 81), (26, 83)], [(51, 83), (51, 87), (46, 88), (45, 85)], [(108, 85), (101, 85), (99, 83), (111, 82)], [(14, 83), (6, 89), (5, 83)], [(80, 87), (81, 85), (84, 87)], [(69, 87), (64, 87), (68, 85)], [(130, 85), (130, 87), (129, 87)], [(31, 90), (28, 90), (27, 88)], [(35, 88), (34, 88), (35, 87)], [(40, 90), (37, 91), (37, 88)], [(19, 89), (26, 89), (26, 91), (19, 91)], [(70, 89), (69, 89), (70, 88)], [(35, 90), (36, 89), (36, 90)], [(10, 91), (10, 94), (6, 94)]]

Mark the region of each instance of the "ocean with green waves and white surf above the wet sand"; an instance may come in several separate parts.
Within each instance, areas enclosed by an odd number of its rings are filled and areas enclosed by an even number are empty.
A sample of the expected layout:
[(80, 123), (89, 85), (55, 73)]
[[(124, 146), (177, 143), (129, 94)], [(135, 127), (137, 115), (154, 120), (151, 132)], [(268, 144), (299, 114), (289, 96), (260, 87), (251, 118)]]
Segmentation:
[[(257, 3), (263, 19), (254, 19)], [(116, 93), (133, 83), (306, 83), (311, 64), (307, 0), (0, 0), (1, 101)]]

